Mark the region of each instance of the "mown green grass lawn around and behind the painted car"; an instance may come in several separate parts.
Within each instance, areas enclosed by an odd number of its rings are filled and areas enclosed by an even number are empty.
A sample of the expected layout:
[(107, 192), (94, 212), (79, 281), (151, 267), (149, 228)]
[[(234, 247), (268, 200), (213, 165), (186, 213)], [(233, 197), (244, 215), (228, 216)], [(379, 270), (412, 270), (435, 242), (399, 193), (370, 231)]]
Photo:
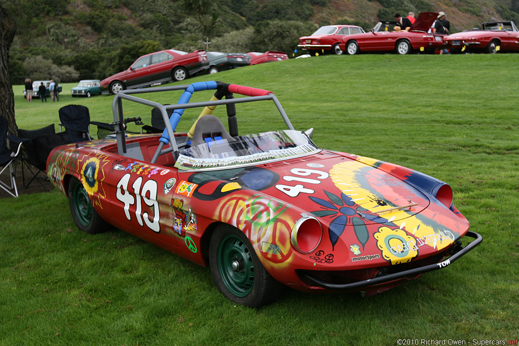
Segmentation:
[[(449, 183), (454, 204), (483, 236), (452, 266), (371, 298), (287, 288), (274, 304), (249, 309), (223, 297), (208, 268), (122, 231), (79, 231), (57, 190), (5, 198), (0, 345), (364, 346), (399, 339), (517, 339), (517, 57), (321, 56), (187, 80), (271, 90), (296, 129), (315, 128), (317, 145)], [(75, 85), (63, 84), (54, 103), (27, 103), (23, 87), (14, 86), (18, 127), (54, 123), (59, 130), (58, 109), (66, 104), (89, 107), (91, 120), (113, 121), (113, 96), (73, 99)], [(156, 100), (176, 103), (179, 95)], [(202, 92), (193, 100), (211, 95)], [(240, 133), (283, 128), (268, 108), (237, 106)], [(149, 109), (127, 112), (125, 117), (141, 116), (149, 124)], [(179, 129), (187, 130), (196, 116), (186, 111)]]

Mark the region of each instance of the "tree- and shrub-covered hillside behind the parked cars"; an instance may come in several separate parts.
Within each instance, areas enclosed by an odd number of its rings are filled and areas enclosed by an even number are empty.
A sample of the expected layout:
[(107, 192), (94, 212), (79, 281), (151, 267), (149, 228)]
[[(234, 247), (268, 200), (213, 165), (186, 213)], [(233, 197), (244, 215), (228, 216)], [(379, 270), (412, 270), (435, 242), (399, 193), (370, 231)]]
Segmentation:
[(9, 61), (13, 84), (25, 77), (102, 79), (142, 54), (170, 48), (279, 50), (293, 57), (297, 38), (319, 25), (368, 30), (395, 12), (445, 11), (453, 32), (487, 20), (519, 22), (519, 3), (509, 0), (0, 1), (18, 22)]

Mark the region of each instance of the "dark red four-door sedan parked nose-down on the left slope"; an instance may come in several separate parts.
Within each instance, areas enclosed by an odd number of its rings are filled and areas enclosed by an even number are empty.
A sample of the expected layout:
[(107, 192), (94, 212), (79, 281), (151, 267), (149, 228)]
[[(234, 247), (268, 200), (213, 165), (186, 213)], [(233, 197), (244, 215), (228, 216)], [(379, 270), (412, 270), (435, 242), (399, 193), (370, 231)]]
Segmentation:
[(181, 81), (207, 72), (209, 59), (203, 49), (186, 53), (162, 50), (137, 59), (128, 70), (101, 80), (101, 92), (116, 94), (125, 89), (149, 87), (170, 81)]

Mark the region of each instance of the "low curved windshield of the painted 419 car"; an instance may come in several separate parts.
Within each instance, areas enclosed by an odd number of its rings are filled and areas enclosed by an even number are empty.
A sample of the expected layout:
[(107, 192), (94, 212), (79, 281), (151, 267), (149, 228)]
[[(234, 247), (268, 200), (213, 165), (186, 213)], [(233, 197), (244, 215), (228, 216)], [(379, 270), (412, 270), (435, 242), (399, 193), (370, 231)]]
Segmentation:
[(218, 170), (254, 165), (318, 153), (320, 149), (301, 131), (282, 130), (199, 144), (179, 150), (179, 170)]

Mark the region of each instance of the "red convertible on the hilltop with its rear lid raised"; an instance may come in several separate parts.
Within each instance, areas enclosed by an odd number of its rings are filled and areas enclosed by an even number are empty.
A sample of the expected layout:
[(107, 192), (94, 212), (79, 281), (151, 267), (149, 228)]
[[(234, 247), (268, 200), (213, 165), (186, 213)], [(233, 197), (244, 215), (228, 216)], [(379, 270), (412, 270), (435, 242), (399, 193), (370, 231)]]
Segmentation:
[[(389, 31), (389, 25), (396, 22), (380, 21), (369, 33), (350, 35), (339, 48), (348, 54), (360, 52), (389, 52), (408, 54), (413, 51), (434, 51), (445, 48), (443, 34), (428, 34), (432, 23), (438, 17), (435, 12), (421, 12), (409, 31)], [(399, 27), (400, 29), (400, 27)]]

